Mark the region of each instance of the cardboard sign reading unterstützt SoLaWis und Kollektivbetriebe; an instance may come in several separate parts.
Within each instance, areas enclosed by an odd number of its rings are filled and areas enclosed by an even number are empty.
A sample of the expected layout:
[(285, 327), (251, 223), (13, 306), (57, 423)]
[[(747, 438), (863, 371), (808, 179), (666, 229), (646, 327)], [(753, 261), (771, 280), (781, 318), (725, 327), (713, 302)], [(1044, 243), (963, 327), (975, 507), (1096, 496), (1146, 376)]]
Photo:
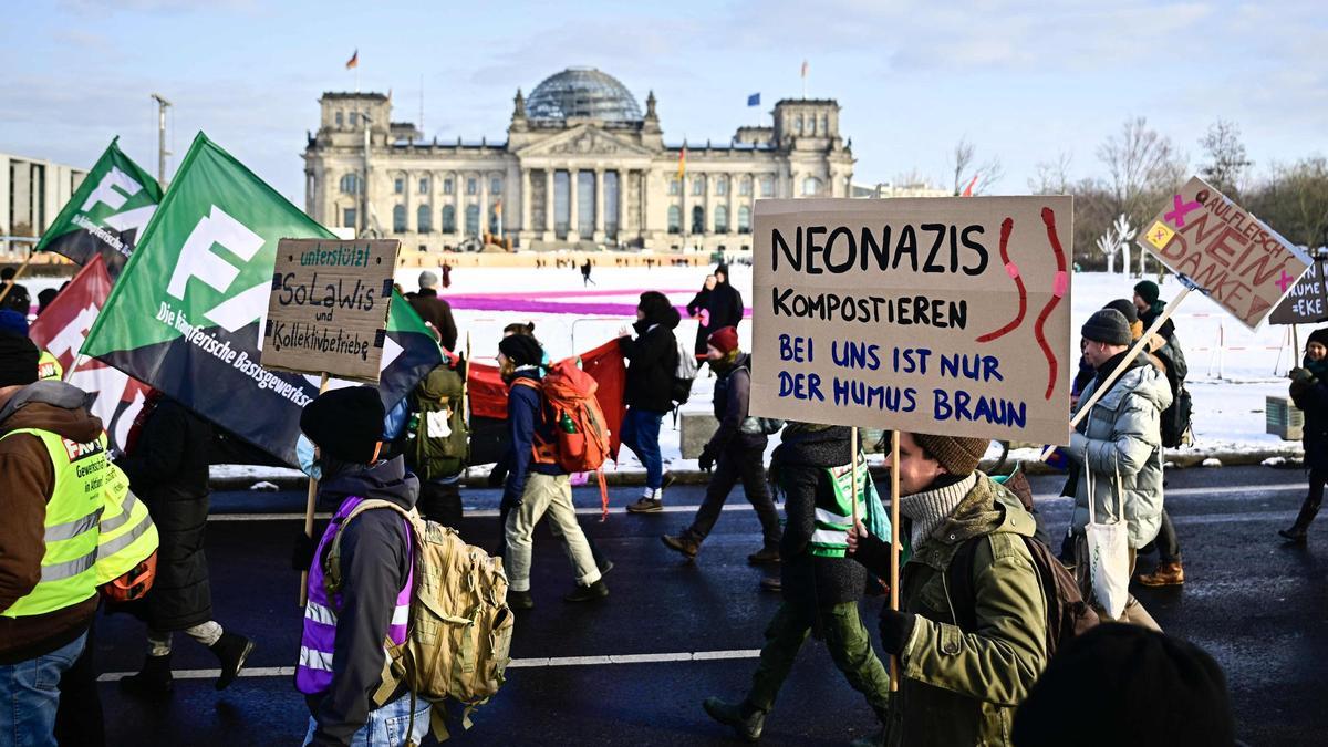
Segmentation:
[(397, 239), (282, 239), (263, 367), (376, 384), (400, 247)]

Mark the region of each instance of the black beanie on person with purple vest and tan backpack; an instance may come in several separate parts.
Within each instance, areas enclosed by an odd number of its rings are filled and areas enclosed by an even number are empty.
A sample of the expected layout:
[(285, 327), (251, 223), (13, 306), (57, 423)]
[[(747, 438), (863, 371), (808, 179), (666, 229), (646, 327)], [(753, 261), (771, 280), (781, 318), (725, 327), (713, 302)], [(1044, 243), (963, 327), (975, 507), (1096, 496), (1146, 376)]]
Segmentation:
[(300, 413), (300, 431), (341, 461), (369, 464), (382, 440), (382, 397), (377, 387), (323, 392)]

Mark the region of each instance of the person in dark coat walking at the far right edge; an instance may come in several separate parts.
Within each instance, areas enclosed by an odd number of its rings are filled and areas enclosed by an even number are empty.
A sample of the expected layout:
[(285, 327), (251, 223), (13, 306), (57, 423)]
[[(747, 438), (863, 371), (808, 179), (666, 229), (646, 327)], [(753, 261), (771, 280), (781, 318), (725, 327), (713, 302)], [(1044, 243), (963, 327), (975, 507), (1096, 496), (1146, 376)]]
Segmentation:
[(1300, 506), (1300, 514), (1289, 529), (1282, 529), (1287, 540), (1305, 542), (1309, 522), (1319, 513), (1328, 484), (1328, 327), (1315, 330), (1305, 342), (1305, 359), (1292, 368), (1291, 400), (1305, 413), (1303, 441), (1305, 467), (1309, 469), (1309, 494)]

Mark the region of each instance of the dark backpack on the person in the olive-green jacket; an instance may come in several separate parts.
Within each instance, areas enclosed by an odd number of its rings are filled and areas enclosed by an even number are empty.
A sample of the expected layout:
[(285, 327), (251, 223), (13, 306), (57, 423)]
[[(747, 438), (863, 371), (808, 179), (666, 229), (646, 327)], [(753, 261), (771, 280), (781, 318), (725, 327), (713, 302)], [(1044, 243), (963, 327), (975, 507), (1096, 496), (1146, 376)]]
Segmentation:
[[(983, 534), (960, 545), (947, 572), (951, 599), (955, 603), (955, 621), (965, 633), (977, 629), (973, 558), (977, 554), (977, 542), (985, 538)], [(1033, 568), (1046, 594), (1046, 658), (1050, 659), (1061, 646), (1069, 643), (1070, 638), (1088, 633), (1100, 621), (1093, 607), (1084, 601), (1074, 576), (1061, 565), (1052, 549), (1040, 540), (1023, 534), (1020, 538), (1033, 556)]]

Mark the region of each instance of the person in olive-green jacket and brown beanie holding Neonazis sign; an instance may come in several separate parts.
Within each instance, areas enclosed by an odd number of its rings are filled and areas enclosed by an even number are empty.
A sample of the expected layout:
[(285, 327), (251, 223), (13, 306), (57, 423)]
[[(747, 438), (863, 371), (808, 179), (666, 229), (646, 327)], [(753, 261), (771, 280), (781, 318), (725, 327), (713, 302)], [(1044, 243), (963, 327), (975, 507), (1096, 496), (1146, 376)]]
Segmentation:
[[(1046, 598), (1024, 544), (1036, 524), (977, 472), (987, 445), (899, 433), (899, 513), (912, 557), (900, 569), (900, 610), (880, 611), (880, 645), (899, 658), (900, 679), (872, 744), (1009, 746), (1015, 710), (1046, 666)], [(973, 598), (956, 599), (950, 565), (967, 542), (976, 542)], [(888, 578), (887, 541), (858, 524), (849, 545)]]

